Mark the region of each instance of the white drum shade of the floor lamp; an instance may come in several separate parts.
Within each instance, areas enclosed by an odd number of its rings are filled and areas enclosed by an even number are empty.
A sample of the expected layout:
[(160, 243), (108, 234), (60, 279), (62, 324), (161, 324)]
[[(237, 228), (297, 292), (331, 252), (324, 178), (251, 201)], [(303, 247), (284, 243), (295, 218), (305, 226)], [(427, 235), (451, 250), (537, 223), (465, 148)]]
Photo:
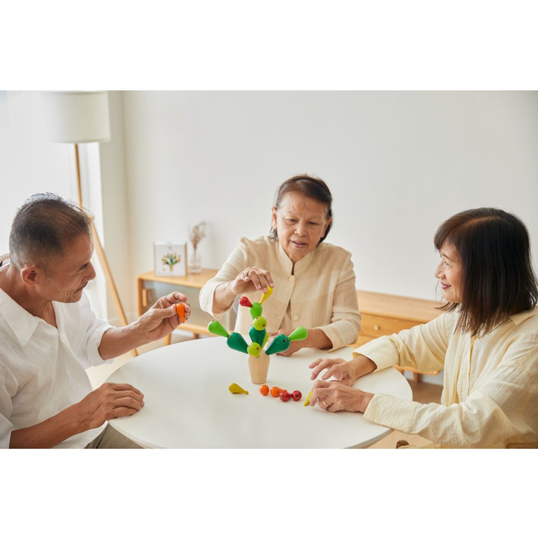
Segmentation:
[(110, 119), (106, 91), (46, 91), (43, 104), (52, 142), (108, 142)]

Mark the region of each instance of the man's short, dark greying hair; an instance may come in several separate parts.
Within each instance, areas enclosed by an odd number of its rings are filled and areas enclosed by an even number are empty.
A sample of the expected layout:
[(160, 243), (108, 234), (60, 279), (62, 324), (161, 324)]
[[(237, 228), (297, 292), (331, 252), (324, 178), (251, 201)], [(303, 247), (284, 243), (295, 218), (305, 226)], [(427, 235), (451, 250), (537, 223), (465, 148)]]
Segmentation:
[(34, 194), (17, 210), (9, 234), (11, 263), (46, 265), (47, 258), (62, 256), (77, 237), (91, 236), (90, 216), (74, 202), (57, 194)]

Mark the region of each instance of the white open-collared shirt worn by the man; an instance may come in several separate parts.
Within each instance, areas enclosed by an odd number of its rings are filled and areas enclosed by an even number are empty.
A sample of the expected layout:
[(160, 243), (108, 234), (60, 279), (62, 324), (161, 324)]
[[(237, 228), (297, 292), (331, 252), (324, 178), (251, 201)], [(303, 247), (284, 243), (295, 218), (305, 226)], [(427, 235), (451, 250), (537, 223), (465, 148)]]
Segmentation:
[[(0, 289), (0, 448), (11, 432), (34, 426), (76, 404), (92, 390), (86, 369), (112, 325), (97, 320), (86, 294), (76, 303), (53, 301), (56, 329)], [(84, 431), (54, 448), (83, 448), (104, 429)]]

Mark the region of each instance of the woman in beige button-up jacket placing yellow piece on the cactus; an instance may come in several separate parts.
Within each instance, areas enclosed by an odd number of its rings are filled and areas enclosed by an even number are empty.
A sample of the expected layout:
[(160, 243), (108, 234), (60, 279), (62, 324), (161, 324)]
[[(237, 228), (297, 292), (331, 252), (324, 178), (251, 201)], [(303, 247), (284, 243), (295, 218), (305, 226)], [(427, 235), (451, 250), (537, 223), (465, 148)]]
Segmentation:
[[(299, 175), (280, 185), (269, 236), (242, 238), (216, 277), (200, 292), (202, 310), (220, 318), (238, 295), (264, 302), (267, 332), (290, 334), (306, 327), (300, 348), (338, 349), (357, 341), (360, 314), (351, 254), (325, 243), (332, 225), (332, 196), (321, 179)], [(249, 309), (239, 308), (235, 330), (249, 332)]]

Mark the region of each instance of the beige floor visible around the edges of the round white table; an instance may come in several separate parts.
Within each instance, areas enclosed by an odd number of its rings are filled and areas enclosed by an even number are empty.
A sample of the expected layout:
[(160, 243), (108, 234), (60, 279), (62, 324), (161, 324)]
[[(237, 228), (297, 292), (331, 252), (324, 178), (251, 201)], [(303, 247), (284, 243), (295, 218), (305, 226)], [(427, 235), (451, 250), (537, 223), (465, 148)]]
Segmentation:
[[(188, 337), (172, 335), (172, 343), (182, 342), (188, 340)], [(147, 344), (140, 348), (139, 353), (144, 353), (152, 349), (159, 348), (164, 344), (164, 341), (160, 340), (158, 342), (153, 342)], [(126, 353), (120, 357), (117, 357), (112, 364), (103, 364), (102, 366), (92, 367), (88, 370), (88, 376), (91, 380), (91, 384), (94, 388), (101, 386), (112, 372), (117, 370), (119, 367), (128, 363), (133, 358), (132, 353)], [(421, 404), (429, 404), (430, 402), (435, 402), (436, 404), (441, 401), (441, 391), (442, 387), (439, 385), (434, 385), (432, 383), (424, 383), (423, 381), (410, 381), (408, 380), (409, 385), (413, 391), (413, 400), (420, 402)], [(401, 431), (393, 431), (388, 434), (386, 437), (374, 443), (369, 448), (395, 448), (396, 443), (401, 439), (405, 439), (409, 444), (421, 445), (427, 443), (427, 440), (421, 437), (420, 435), (410, 435), (402, 433)]]

